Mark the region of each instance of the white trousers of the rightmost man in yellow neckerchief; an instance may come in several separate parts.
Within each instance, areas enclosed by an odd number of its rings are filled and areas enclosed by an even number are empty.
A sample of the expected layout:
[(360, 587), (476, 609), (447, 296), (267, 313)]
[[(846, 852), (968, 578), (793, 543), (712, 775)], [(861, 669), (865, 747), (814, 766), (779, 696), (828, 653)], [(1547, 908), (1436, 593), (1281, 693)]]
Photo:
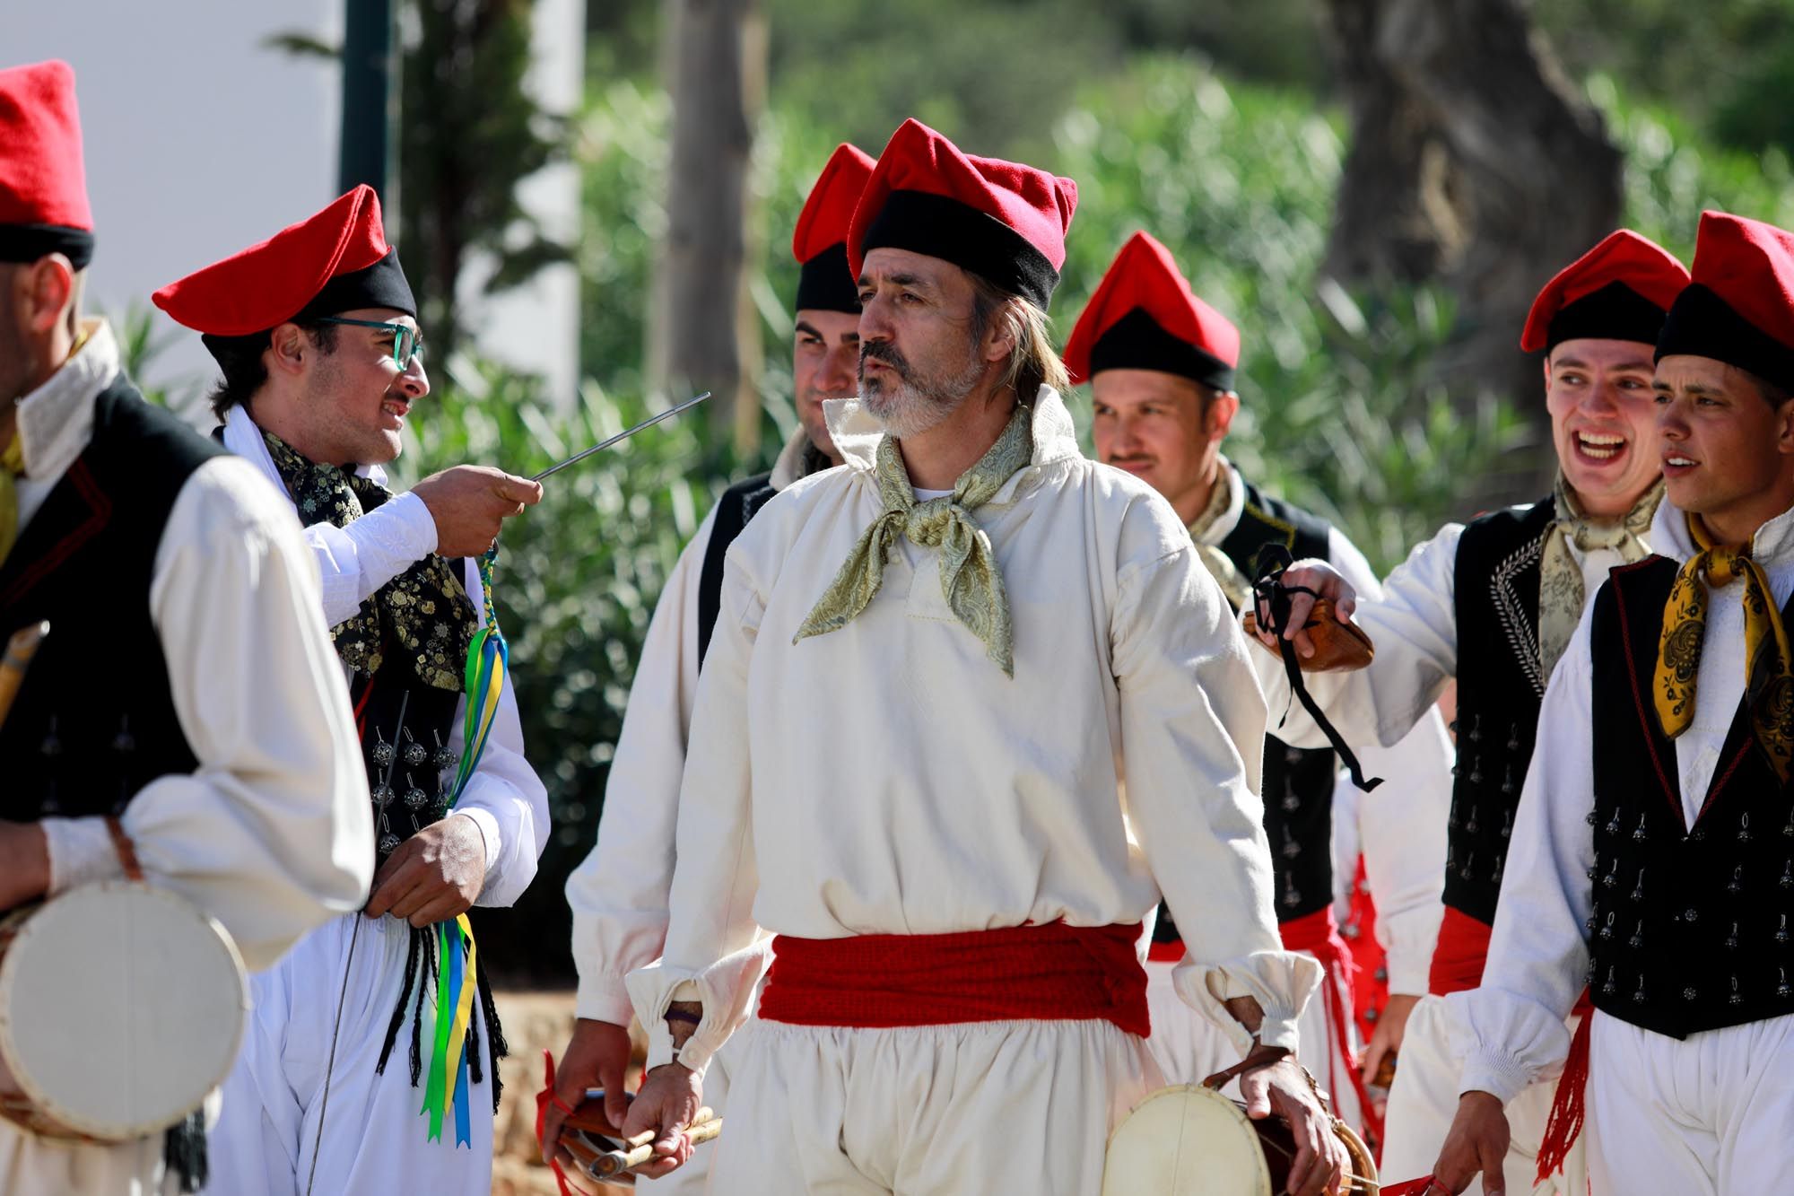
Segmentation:
[(1794, 1192), (1794, 1015), (1676, 1040), (1595, 1013), (1595, 1196)]

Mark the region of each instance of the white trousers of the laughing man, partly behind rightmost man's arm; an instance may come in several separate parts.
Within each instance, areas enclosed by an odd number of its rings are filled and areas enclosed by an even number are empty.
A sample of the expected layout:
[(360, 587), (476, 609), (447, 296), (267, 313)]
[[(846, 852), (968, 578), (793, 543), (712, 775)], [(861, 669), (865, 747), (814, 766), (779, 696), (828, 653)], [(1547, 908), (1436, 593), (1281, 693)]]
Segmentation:
[[(1451, 1119), (1457, 1117), (1460, 1095), (1459, 1077), (1464, 1060), (1451, 1047), (1451, 1007), (1444, 997), (1423, 997), (1408, 1016), (1401, 1036), (1401, 1056), (1396, 1063), (1396, 1083), (1389, 1090), (1389, 1110), (1383, 1117), (1383, 1165), (1389, 1183), (1417, 1180), (1439, 1162), (1439, 1148), (1446, 1144)], [(1545, 1122), (1557, 1095), (1557, 1079), (1530, 1085), (1507, 1104), (1507, 1160), (1502, 1164), (1503, 1185), (1509, 1196), (1584, 1196), (1588, 1192), (1586, 1142), (1582, 1135), (1570, 1148), (1563, 1174), (1534, 1187), (1539, 1169), (1539, 1142)], [(1638, 1192), (1659, 1189), (1643, 1187)], [(1668, 1189), (1661, 1189), (1668, 1191)], [(1482, 1180), (1466, 1189), (1482, 1194)]]

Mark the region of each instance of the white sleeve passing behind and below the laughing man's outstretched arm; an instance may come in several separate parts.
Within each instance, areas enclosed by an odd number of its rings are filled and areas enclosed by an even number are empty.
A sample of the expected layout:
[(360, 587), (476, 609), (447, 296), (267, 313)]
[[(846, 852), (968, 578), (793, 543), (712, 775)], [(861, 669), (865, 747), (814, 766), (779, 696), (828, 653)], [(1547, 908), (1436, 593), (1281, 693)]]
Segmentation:
[[(1369, 562), (1338, 530), (1329, 548), (1333, 567), (1353, 589), (1367, 602), (1389, 603)], [(1455, 670), (1457, 663), (1451, 666)], [(1371, 740), (1353, 751), (1367, 778), (1383, 778), (1381, 785), (1360, 796), (1358, 824), (1365, 880), (1376, 901), (1376, 937), (1389, 952), (1389, 991), (1419, 997), (1428, 988), (1433, 945), (1444, 918), (1451, 740), (1435, 706), (1423, 711), (1394, 745)], [(1351, 862), (1340, 860), (1338, 866), (1351, 867)]]

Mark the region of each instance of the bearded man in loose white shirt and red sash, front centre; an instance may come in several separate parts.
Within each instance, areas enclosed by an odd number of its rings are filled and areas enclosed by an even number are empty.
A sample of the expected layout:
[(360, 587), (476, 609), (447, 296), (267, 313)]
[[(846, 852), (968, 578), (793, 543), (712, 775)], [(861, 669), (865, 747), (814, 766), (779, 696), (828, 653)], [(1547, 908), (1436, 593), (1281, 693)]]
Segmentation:
[(1254, 1112), (1293, 1121), (1293, 1189), (1344, 1164), (1290, 1058), (1319, 968), (1277, 941), (1243, 638), (1060, 399), (1044, 309), (1075, 203), (906, 122), (847, 239), (845, 469), (728, 550), (666, 950), (628, 977), (651, 1045), (624, 1124), (687, 1155), (764, 972), (718, 1191), (1098, 1191), (1159, 1086), (1136, 945), (1161, 893), (1180, 993), (1247, 1056)]

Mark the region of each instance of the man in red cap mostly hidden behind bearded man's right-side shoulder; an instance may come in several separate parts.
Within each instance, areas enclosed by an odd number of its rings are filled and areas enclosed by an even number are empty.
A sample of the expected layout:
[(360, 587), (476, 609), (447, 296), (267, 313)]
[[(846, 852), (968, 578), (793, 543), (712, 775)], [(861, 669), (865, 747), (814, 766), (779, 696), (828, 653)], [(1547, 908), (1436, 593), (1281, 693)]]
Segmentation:
[[(1263, 494), (1222, 454), (1240, 409), (1234, 374), (1240, 332), (1191, 293), (1170, 250), (1134, 233), (1103, 275), (1066, 341), (1073, 383), (1091, 383), (1096, 460), (1152, 485), (1189, 528), (1197, 557), (1229, 605), (1250, 603), (1259, 553), (1276, 544), (1292, 557), (1331, 562), (1362, 591), (1378, 591), (1363, 555), (1319, 515)], [(1371, 740), (1358, 749), (1367, 774), (1387, 778), (1369, 803), (1399, 833), (1367, 840), (1380, 930), (1390, 943), (1389, 1006), (1372, 1054), (1401, 1042), (1406, 1009), (1426, 991), (1426, 964), (1439, 934), (1439, 867), (1450, 806), (1451, 761), (1444, 722), (1428, 715), (1394, 749)], [(1338, 1115), (1376, 1126), (1358, 1074), (1351, 1018), (1351, 955), (1333, 919), (1333, 788), (1340, 761), (1331, 747), (1265, 743), (1265, 835), (1276, 864), (1276, 909), (1283, 945), (1326, 968), (1320, 1000), (1308, 1002), (1301, 1038), (1308, 1065), (1331, 1090)], [(1347, 860), (1347, 866), (1351, 862)], [(1177, 925), (1161, 910), (1146, 963), (1154, 1058), (1166, 1079), (1198, 1083), (1231, 1060), (1227, 1040), (1184, 1006), (1171, 988), (1184, 955)], [(1367, 1061), (1374, 1076), (1374, 1060)]]

